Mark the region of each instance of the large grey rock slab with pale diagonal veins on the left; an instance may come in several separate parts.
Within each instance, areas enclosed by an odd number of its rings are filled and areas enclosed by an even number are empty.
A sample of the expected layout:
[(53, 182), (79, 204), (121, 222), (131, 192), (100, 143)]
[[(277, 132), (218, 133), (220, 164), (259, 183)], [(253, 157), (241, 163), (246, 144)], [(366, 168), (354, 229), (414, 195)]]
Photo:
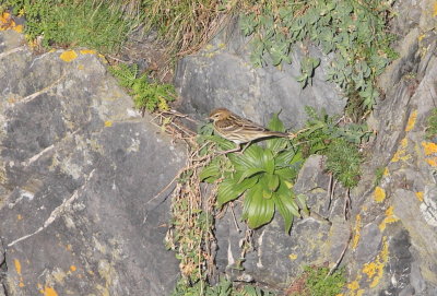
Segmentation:
[(7, 295), (168, 295), (168, 192), (153, 197), (184, 150), (132, 109), (94, 52), (34, 56), (23, 44), (0, 32)]

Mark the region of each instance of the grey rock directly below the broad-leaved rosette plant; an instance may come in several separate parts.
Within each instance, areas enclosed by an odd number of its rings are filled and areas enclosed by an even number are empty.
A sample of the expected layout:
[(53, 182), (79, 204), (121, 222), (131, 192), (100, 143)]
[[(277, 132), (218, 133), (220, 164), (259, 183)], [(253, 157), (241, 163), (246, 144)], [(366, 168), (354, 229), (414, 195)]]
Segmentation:
[(285, 288), (304, 267), (334, 262), (327, 241), (330, 226), (311, 217), (295, 221), (284, 233), (280, 218), (256, 232), (255, 251), (247, 254), (245, 272), (258, 283)]

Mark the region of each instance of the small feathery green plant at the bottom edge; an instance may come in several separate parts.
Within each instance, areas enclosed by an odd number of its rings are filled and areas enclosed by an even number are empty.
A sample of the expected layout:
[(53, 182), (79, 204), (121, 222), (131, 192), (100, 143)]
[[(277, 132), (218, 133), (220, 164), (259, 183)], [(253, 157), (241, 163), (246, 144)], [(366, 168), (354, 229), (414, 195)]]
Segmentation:
[(290, 296), (335, 296), (339, 295), (346, 283), (344, 269), (329, 274), (328, 268), (307, 267), (300, 279), (304, 285)]

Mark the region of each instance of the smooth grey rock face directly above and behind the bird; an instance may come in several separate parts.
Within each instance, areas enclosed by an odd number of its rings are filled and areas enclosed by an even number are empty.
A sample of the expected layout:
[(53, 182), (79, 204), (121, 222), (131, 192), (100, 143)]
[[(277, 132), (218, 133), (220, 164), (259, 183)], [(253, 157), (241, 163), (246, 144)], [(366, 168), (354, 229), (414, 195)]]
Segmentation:
[(296, 81), (304, 57), (299, 49), (292, 54), (293, 63), (282, 70), (255, 69), (249, 61), (249, 38), (243, 37), (238, 24), (234, 24), (198, 54), (179, 61), (175, 83), (182, 96), (180, 108), (205, 115), (226, 107), (259, 123), (267, 123), (272, 114), (281, 111), (286, 127), (292, 128), (305, 122), (305, 106), (322, 106), (328, 114), (342, 114), (345, 99), (334, 84), (324, 81), (327, 57), (316, 48), (309, 51), (321, 58), (321, 66), (312, 85), (303, 90)]

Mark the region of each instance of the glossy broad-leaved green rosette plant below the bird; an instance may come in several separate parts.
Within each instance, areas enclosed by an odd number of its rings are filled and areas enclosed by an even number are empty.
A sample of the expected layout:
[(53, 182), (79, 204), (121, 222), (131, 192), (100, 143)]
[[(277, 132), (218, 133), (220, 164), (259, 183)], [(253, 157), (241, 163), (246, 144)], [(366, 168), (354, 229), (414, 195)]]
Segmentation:
[[(268, 128), (285, 131), (277, 115)], [(222, 149), (234, 147), (234, 143), (216, 135), (208, 139)], [(288, 139), (276, 138), (264, 142), (264, 147), (251, 144), (243, 154), (227, 154), (227, 159), (216, 157), (202, 170), (200, 178), (206, 182), (222, 180), (217, 191), (218, 208), (244, 197), (243, 220), (250, 228), (268, 224), (277, 211), (288, 233), (294, 217), (300, 216), (299, 205), (306, 209), (304, 198), (296, 197), (292, 189), (303, 156)]]

